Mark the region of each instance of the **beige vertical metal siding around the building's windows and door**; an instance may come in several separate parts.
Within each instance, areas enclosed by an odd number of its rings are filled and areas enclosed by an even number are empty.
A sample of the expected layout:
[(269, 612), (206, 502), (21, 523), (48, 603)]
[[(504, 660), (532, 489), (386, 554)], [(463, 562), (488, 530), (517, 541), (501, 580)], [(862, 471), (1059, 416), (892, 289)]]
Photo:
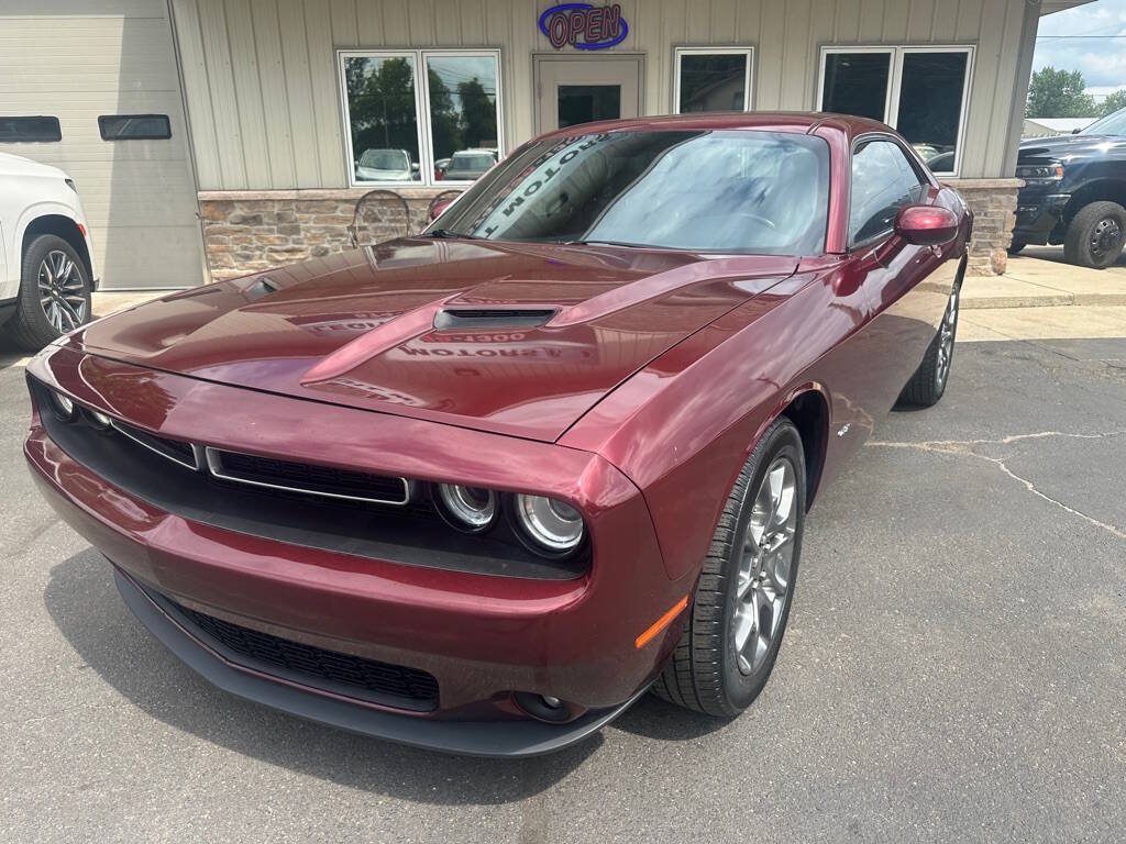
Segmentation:
[[(554, 2), (173, 0), (200, 187), (347, 183), (336, 48), (499, 47), (504, 143), (512, 150), (533, 132), (531, 55), (551, 52), (536, 19)], [(676, 45), (751, 45), (754, 107), (808, 109), (825, 44), (971, 44), (962, 176), (1003, 176), (1024, 3), (622, 0), (631, 33), (615, 50), (645, 55), (644, 107), (664, 114)]]

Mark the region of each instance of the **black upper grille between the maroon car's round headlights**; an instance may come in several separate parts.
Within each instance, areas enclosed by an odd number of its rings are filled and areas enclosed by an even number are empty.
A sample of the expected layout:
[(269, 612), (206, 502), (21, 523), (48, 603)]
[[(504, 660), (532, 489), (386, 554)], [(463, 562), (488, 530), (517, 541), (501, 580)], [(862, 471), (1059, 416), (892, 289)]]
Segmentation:
[(566, 560), (528, 550), (507, 520), (468, 542), (446, 527), (432, 485), (393, 475), (259, 457), (177, 440), (90, 408), (72, 420), (48, 408), (29, 378), (39, 421), (73, 460), (182, 519), (304, 548), (453, 572), (573, 580), (590, 555)]

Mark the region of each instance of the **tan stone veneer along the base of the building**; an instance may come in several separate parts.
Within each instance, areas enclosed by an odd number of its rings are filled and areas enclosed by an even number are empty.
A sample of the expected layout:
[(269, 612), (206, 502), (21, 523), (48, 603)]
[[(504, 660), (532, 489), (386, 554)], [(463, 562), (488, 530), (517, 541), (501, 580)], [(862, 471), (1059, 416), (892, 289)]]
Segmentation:
[[(1004, 272), (1016, 222), (1018, 179), (958, 179), (948, 182), (974, 212), (966, 275)], [(205, 191), (199, 194), (207, 264), (214, 280), (267, 270), (351, 248), (348, 226), (365, 190)], [(378, 200), (367, 206), (361, 242), (377, 243), (420, 232), (441, 189), (397, 191), (410, 208)]]

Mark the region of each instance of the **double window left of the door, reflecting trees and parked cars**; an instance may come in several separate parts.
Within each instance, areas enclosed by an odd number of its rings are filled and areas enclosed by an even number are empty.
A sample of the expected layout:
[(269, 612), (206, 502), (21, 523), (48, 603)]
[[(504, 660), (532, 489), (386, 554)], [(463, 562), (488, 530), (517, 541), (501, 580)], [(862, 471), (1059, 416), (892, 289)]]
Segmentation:
[(466, 183), (503, 153), (498, 51), (340, 51), (352, 185)]

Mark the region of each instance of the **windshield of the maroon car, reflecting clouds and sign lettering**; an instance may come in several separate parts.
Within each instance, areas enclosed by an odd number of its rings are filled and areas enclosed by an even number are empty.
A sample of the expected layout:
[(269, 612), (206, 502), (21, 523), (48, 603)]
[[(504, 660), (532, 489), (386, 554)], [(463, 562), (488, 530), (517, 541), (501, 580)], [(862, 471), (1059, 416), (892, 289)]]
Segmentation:
[(435, 228), (490, 240), (688, 251), (824, 249), (829, 144), (753, 131), (608, 132), (533, 142)]

